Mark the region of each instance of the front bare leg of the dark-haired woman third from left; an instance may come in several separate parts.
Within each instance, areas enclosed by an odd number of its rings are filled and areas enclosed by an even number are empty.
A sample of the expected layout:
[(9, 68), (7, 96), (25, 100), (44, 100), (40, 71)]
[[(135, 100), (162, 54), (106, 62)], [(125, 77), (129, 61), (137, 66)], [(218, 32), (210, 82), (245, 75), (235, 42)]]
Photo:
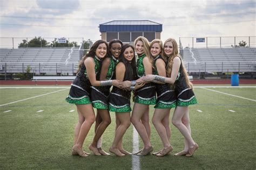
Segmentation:
[(118, 155), (118, 156), (124, 156), (122, 152), (118, 150), (118, 145), (120, 145), (120, 140), (122, 140), (124, 133), (129, 128), (131, 124), (131, 117), (130, 112), (124, 112), (124, 113), (117, 113), (116, 117), (120, 121), (120, 125), (118, 126), (116, 130), (116, 135), (114, 136), (114, 141), (112, 143), (112, 146), (110, 147), (110, 152)]

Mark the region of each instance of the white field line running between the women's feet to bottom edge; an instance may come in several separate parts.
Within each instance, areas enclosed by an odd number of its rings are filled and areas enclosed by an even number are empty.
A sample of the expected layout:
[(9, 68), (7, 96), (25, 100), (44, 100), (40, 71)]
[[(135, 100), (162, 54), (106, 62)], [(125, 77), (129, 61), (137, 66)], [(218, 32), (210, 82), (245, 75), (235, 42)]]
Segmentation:
[[(138, 152), (139, 151), (139, 136), (138, 136), (138, 132), (135, 129), (135, 127), (133, 126), (133, 134), (132, 134), (133, 140), (133, 153)], [(132, 155), (132, 169), (140, 169), (140, 163), (139, 163), (139, 156), (137, 155)]]

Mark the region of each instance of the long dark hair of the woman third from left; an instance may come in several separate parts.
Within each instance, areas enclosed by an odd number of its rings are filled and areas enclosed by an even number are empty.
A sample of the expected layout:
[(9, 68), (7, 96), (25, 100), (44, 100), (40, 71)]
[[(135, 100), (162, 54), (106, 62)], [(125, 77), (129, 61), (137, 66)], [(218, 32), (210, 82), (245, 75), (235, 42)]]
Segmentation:
[[(126, 48), (131, 47), (134, 53), (134, 57), (131, 62), (124, 58), (124, 51)], [(125, 77), (129, 77), (130, 79), (136, 79), (136, 59), (135, 59), (135, 50), (134, 47), (130, 44), (125, 44), (121, 49), (121, 54), (119, 56), (119, 62), (123, 62), (125, 65)], [(132, 70), (132, 72), (131, 72)]]

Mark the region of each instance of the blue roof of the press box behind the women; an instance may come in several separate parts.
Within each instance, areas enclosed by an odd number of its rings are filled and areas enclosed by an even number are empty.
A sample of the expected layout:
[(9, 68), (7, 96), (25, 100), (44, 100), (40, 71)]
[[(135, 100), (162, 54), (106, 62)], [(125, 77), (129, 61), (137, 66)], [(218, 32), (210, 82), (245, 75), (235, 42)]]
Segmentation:
[(162, 24), (150, 20), (112, 20), (111, 22), (99, 24), (100, 32), (136, 32), (151, 31), (161, 32)]

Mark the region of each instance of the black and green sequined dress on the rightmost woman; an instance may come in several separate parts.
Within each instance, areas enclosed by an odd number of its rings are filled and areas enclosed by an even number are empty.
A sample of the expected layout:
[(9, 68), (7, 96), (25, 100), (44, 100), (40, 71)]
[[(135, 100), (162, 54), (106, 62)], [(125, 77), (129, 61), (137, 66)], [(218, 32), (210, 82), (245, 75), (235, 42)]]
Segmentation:
[(174, 82), (174, 91), (177, 95), (176, 105), (180, 107), (198, 103), (193, 90), (187, 87), (182, 65), (183, 63), (181, 61), (181, 64), (179, 67), (179, 73), (176, 81)]

